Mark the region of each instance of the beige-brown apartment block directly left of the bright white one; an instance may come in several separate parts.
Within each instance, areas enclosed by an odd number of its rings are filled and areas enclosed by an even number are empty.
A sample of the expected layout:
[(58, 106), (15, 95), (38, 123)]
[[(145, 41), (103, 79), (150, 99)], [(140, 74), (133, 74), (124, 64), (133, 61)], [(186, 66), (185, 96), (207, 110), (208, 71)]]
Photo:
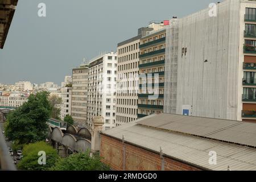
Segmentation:
[(86, 127), (88, 65), (82, 64), (79, 68), (73, 68), (72, 72), (71, 116), (76, 125)]

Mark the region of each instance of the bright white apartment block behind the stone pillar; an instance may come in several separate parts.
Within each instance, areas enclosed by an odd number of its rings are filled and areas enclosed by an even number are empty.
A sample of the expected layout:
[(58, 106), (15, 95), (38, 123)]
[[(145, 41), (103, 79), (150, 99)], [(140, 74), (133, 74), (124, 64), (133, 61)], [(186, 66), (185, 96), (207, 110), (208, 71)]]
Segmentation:
[(115, 127), (117, 54), (104, 53), (89, 61), (87, 123), (94, 116), (104, 118), (104, 130)]

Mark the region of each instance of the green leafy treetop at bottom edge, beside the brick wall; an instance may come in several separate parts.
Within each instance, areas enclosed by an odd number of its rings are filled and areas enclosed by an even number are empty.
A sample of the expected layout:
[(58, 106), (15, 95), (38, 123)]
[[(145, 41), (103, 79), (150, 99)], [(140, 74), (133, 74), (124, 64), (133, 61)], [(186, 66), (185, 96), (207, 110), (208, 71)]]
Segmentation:
[(109, 166), (101, 162), (100, 156), (90, 157), (89, 152), (73, 154), (57, 160), (52, 171), (109, 171)]

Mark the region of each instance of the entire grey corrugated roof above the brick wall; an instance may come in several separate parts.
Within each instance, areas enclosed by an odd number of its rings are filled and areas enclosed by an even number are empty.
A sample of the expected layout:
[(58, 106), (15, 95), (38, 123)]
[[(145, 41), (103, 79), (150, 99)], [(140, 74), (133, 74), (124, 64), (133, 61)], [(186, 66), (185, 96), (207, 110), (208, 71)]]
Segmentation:
[[(168, 115), (172, 120), (168, 119)], [(114, 129), (103, 131), (102, 134), (118, 138), (120, 140), (122, 140), (122, 135), (124, 135), (125, 140), (127, 142), (135, 144), (137, 146), (141, 146), (143, 148), (147, 148), (148, 150), (152, 150), (155, 152), (159, 152), (160, 147), (162, 147), (164, 155), (170, 156), (171, 158), (180, 159), (192, 165), (201, 166), (202, 168), (207, 168), (210, 170), (227, 171), (228, 166), (230, 166), (230, 169), (233, 171), (256, 170), (255, 148), (240, 146), (237, 144), (230, 144), (226, 142), (220, 142), (208, 138), (200, 138), (194, 135), (175, 133), (170, 130), (172, 129), (172, 127), (169, 127), (170, 122), (177, 122), (180, 123), (180, 125), (174, 125), (176, 131), (179, 130), (179, 132), (182, 133), (185, 133), (184, 131), (186, 131), (187, 133), (206, 135), (207, 132), (201, 130), (207, 129), (208, 132), (214, 131), (213, 129), (220, 130), (227, 126), (233, 126), (234, 124), (236, 125), (236, 121), (225, 121), (220, 119), (205, 118), (204, 123), (202, 122), (203, 118), (200, 118), (198, 122), (197, 119), (195, 119), (195, 117), (192, 117), (192, 119), (190, 118), (191, 117), (183, 118), (179, 117), (178, 115), (171, 114), (158, 115), (157, 117), (150, 116), (138, 119), (137, 122), (135, 121), (127, 123)], [(193, 124), (193, 122), (195, 123)], [(181, 125), (181, 123), (183, 124)], [(164, 125), (167, 124), (167, 129), (170, 131), (158, 129), (159, 125), (161, 125), (161, 128), (164, 129)], [(187, 124), (190, 127), (190, 129), (192, 129), (192, 132), (190, 132), (188, 126), (185, 126)], [(219, 131), (220, 134), (214, 133), (212, 134), (213, 136), (210, 135), (210, 137), (218, 139), (224, 138), (232, 141), (241, 140), (241, 143), (251, 144), (253, 142), (253, 138), (255, 139), (255, 136), (253, 137), (253, 135), (251, 135), (250, 137), (252, 138), (247, 139), (248, 142), (245, 141), (246, 137), (243, 137), (243, 135), (249, 136), (248, 133), (246, 133), (246, 131), (250, 131), (249, 134), (255, 133), (256, 130), (253, 130), (249, 126), (247, 126), (250, 124), (253, 123), (245, 123), (245, 125), (241, 125), (243, 127), (237, 125), (234, 126), (233, 130), (232, 127), (230, 129), (226, 129), (226, 131), (229, 132), (226, 135), (225, 130), (223, 130)], [(145, 126), (154, 126), (154, 128)], [(201, 130), (194, 129), (195, 127), (200, 127)], [(240, 134), (237, 133), (237, 131), (240, 131)], [(232, 137), (230, 137), (231, 135), (233, 135), (234, 137), (238, 136), (241, 139), (232, 139)], [(217, 152), (216, 165), (209, 164), (210, 151)]]

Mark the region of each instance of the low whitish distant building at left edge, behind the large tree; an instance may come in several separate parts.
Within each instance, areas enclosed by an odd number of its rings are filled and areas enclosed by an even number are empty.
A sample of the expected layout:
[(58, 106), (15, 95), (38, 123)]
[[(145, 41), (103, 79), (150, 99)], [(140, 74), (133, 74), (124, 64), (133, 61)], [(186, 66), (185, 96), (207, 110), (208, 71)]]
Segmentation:
[(0, 96), (0, 107), (19, 107), (28, 101), (29, 94), (6, 93)]

